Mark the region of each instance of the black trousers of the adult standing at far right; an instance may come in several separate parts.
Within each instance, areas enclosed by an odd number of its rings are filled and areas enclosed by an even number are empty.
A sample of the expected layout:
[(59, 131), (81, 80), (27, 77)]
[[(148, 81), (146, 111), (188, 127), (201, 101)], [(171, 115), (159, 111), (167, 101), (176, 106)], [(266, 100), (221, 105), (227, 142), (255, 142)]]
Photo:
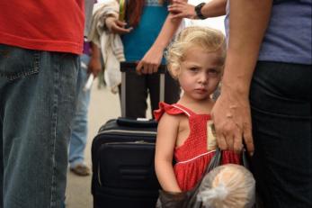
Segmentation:
[(258, 62), (253, 172), (265, 208), (312, 207), (311, 66)]

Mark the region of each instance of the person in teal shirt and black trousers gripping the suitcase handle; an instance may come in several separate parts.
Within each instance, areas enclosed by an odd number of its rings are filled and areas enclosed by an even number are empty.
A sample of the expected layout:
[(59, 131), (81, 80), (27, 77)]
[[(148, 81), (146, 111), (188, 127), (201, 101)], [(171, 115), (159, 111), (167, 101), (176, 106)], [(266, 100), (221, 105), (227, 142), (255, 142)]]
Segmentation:
[[(126, 117), (144, 118), (147, 111), (147, 95), (150, 97), (151, 110), (158, 108), (159, 75), (156, 71), (161, 64), (165, 64), (165, 48), (178, 31), (182, 19), (173, 20), (171, 14), (168, 14), (169, 1), (117, 2), (127, 4), (117, 5), (116, 14), (108, 15), (104, 24), (107, 32), (120, 34), (125, 61), (138, 63), (137, 68), (126, 75)], [(120, 18), (122, 14), (119, 8), (125, 8), (125, 13), (122, 13), (124, 21)], [(179, 97), (180, 86), (166, 73), (165, 102), (173, 104)]]

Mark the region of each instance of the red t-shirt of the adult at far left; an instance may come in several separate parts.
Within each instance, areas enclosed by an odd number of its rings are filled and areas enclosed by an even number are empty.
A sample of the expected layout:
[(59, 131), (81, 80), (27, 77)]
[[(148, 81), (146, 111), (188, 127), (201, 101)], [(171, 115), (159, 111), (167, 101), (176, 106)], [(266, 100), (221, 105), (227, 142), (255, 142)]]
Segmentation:
[(84, 5), (84, 0), (0, 1), (0, 43), (80, 54)]

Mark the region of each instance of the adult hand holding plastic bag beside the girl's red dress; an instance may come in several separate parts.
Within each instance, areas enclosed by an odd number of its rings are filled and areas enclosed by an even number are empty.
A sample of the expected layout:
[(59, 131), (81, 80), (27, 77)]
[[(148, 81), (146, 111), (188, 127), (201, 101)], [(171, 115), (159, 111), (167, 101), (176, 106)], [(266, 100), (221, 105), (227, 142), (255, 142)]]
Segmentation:
[(250, 104), (247, 95), (239, 95), (230, 87), (221, 90), (211, 115), (220, 149), (240, 152), (244, 140), (248, 152), (254, 154)]

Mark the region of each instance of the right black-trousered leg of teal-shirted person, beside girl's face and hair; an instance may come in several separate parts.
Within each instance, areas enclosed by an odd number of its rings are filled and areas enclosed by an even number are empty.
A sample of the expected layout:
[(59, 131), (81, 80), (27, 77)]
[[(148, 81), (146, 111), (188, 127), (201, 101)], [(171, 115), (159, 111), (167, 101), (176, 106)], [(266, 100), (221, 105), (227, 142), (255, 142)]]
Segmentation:
[[(159, 75), (148, 75), (147, 87), (149, 90), (151, 111), (154, 118), (153, 112), (158, 109), (159, 104)], [(177, 80), (174, 80), (168, 72), (165, 73), (165, 103), (175, 104), (180, 99), (180, 85)]]

